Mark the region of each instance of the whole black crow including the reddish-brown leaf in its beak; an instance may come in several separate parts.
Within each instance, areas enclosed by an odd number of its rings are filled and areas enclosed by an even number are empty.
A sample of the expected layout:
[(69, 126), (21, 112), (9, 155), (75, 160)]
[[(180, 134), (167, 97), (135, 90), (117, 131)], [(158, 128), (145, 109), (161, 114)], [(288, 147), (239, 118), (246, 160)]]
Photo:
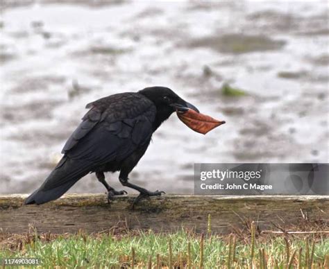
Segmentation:
[(148, 87), (139, 92), (114, 94), (87, 104), (90, 110), (67, 140), (64, 156), (39, 189), (25, 201), (43, 204), (60, 198), (81, 177), (95, 173), (108, 190), (108, 201), (126, 191), (116, 191), (105, 180), (104, 172), (120, 171), (123, 186), (140, 192), (142, 198), (160, 196), (164, 191), (148, 191), (130, 183), (129, 173), (148, 148), (153, 132), (176, 112), (189, 128), (205, 134), (225, 123), (199, 113), (167, 87)]

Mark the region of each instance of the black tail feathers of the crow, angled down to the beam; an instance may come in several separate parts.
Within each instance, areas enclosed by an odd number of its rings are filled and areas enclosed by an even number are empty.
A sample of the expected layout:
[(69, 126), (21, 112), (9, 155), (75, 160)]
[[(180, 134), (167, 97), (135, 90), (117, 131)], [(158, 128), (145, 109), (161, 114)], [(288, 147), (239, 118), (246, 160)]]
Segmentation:
[(44, 204), (60, 198), (81, 177), (90, 172), (90, 163), (85, 160), (62, 157), (58, 165), (39, 189), (25, 200), (25, 205)]

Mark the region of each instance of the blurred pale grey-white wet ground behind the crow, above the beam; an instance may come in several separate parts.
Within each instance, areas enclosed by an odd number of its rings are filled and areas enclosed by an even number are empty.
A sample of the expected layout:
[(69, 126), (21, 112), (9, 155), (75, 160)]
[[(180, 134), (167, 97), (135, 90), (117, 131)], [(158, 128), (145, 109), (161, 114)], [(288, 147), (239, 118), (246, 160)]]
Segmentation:
[(2, 0), (0, 193), (42, 184), (85, 104), (153, 85), (226, 124), (171, 116), (135, 184), (192, 193), (194, 163), (328, 162), (328, 34), (327, 1)]

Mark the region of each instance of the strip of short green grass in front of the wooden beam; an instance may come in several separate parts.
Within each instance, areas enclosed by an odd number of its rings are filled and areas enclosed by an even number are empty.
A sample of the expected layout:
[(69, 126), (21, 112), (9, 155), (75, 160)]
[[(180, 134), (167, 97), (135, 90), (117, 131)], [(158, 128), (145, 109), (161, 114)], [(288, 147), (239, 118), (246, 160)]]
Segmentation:
[(251, 234), (246, 238), (202, 236), (181, 229), (170, 234), (28, 235), (8, 239), (5, 247), (2, 244), (0, 260), (37, 258), (42, 261), (40, 268), (169, 268), (169, 264), (175, 268), (288, 268), (289, 262), (290, 268), (298, 264), (301, 268), (310, 268), (311, 263), (317, 268), (329, 265), (328, 238), (256, 238), (255, 229)]

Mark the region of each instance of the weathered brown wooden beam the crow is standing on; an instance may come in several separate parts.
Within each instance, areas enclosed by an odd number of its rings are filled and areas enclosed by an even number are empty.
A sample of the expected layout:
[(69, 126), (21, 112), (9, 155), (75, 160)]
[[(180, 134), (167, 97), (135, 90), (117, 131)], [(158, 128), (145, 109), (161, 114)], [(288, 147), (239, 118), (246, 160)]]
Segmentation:
[[(205, 232), (208, 214), (214, 233), (242, 227), (241, 218), (258, 220), (260, 229), (272, 223), (298, 225), (303, 214), (329, 223), (329, 196), (180, 196), (166, 195), (130, 209), (135, 196), (118, 197), (108, 205), (101, 194), (69, 194), (45, 205), (23, 205), (26, 195), (0, 196), (0, 229), (23, 233), (33, 225), (38, 232), (101, 232), (117, 225), (129, 229)], [(303, 211), (303, 214), (302, 214)]]

